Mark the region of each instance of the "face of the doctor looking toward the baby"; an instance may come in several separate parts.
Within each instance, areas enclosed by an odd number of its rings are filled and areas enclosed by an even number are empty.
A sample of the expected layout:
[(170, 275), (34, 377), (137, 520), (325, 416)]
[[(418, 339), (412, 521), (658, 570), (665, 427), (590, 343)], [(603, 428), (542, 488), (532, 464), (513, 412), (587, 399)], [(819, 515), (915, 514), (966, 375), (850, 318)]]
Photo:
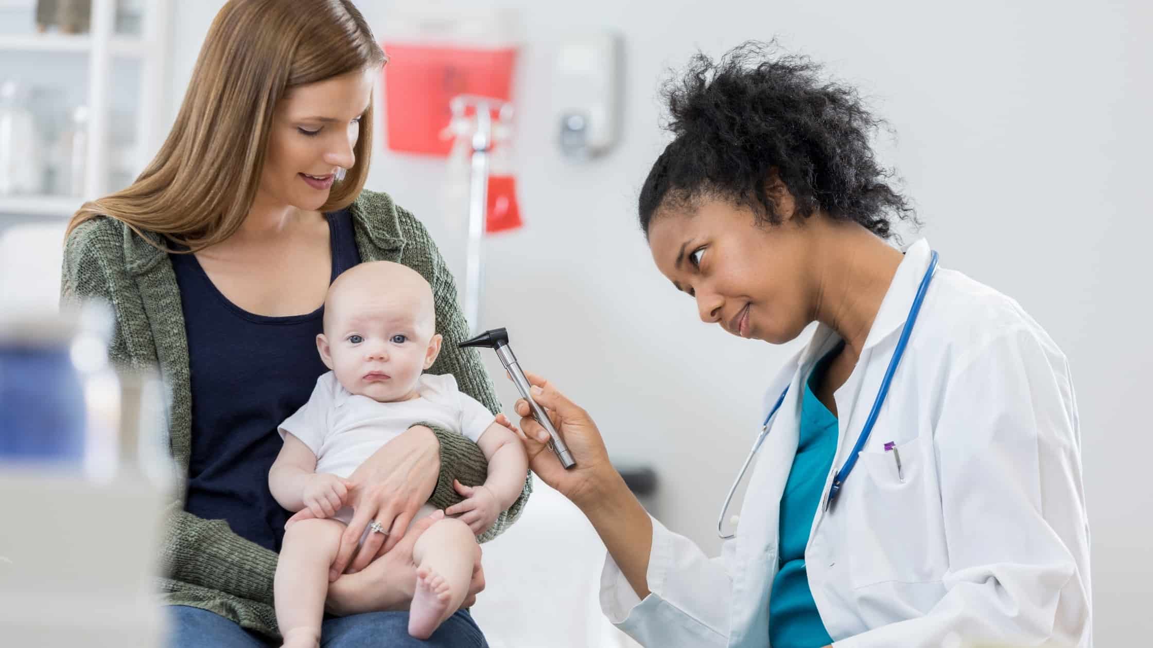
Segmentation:
[[(792, 213), (791, 205), (779, 211)], [(799, 220), (758, 224), (748, 208), (702, 198), (693, 208), (660, 210), (649, 224), (649, 249), (661, 273), (696, 301), (701, 321), (783, 344), (815, 318), (815, 228)]]

